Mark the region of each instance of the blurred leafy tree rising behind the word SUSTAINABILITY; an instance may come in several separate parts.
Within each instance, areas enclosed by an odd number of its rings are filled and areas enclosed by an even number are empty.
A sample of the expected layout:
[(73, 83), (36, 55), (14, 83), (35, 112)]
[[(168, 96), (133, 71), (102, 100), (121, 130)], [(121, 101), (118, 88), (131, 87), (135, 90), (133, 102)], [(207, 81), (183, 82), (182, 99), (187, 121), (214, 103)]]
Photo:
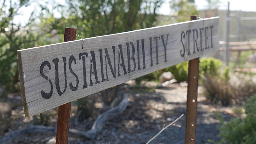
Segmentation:
[[(162, 0), (67, 0), (62, 11), (68, 26), (83, 38), (150, 28)], [(66, 27), (66, 26), (65, 26)]]

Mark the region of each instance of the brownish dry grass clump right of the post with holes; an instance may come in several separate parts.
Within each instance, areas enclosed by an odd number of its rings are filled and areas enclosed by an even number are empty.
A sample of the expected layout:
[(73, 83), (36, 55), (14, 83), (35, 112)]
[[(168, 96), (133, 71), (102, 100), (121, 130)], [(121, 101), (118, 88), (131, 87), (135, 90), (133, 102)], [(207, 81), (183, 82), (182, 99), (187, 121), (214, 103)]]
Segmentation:
[(256, 93), (256, 84), (252, 81), (251, 75), (232, 74), (231, 81), (229, 73), (229, 70), (225, 69), (218, 76), (208, 75), (202, 80), (205, 95), (212, 104), (242, 104)]

